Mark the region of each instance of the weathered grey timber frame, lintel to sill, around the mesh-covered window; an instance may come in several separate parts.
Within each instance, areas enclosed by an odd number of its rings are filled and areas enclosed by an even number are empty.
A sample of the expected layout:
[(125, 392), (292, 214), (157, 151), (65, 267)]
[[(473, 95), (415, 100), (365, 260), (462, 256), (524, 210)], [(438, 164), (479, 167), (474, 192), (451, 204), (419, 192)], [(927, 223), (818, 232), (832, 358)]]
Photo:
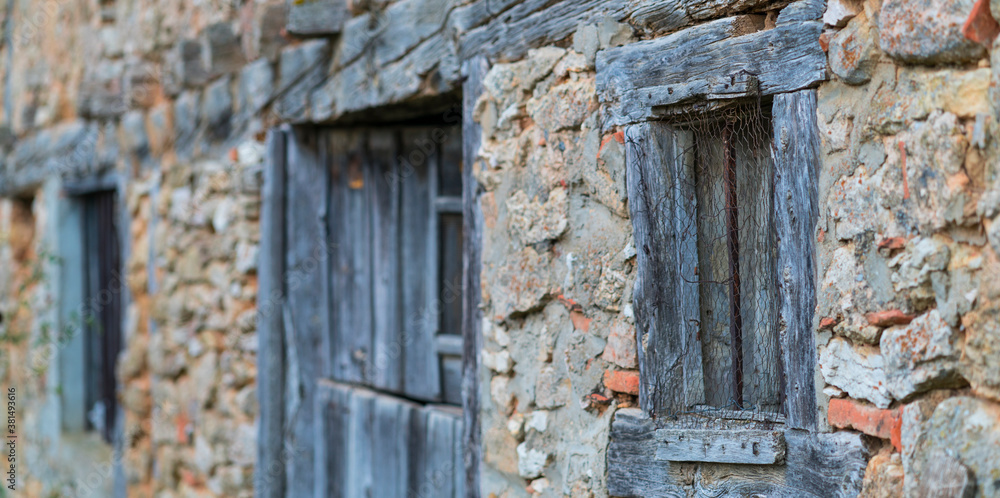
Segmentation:
[[(799, 0), (782, 8), (770, 28), (761, 18), (754, 31), (757, 19), (734, 16), (598, 53), (605, 124), (624, 128), (637, 249), (639, 408), (619, 409), (612, 423), (607, 463), (613, 496), (684, 495), (692, 486), (712, 495), (860, 491), (867, 463), (860, 436), (818, 432), (813, 322), (820, 142), (814, 88), (826, 78), (826, 55), (817, 41), (822, 13), (823, 2)], [(703, 429), (672, 425), (661, 415), (703, 395), (697, 382), (688, 382), (700, 378), (703, 365), (700, 355), (684, 354), (698, 341), (698, 325), (676, 319), (676, 311), (697, 306), (685, 296), (696, 296), (698, 283), (680, 278), (683, 259), (692, 254), (678, 236), (676, 211), (684, 206), (663, 202), (680, 188), (677, 144), (664, 120), (711, 115), (761, 97), (772, 99), (784, 413), (734, 412)]]

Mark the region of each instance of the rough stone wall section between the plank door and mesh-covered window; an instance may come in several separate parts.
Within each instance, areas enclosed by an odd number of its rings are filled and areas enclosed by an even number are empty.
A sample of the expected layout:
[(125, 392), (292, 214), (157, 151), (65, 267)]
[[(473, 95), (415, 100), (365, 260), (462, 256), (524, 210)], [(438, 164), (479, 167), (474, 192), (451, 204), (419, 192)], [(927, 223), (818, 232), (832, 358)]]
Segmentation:
[(600, 131), (593, 69), (629, 31), (604, 29), (494, 65), (476, 104), (484, 496), (606, 496), (611, 414), (636, 402), (624, 140)]

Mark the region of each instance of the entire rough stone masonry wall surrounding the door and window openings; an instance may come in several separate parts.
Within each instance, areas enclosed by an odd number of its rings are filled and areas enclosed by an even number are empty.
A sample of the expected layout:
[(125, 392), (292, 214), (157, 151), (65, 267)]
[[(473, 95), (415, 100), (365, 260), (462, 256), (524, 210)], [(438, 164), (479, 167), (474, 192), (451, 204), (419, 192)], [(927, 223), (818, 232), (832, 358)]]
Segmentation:
[[(794, 6), (821, 16), (827, 55), (820, 430), (865, 435), (861, 495), (1000, 496), (1000, 2), (788, 4), (8, 0), (0, 376), (21, 489), (253, 496), (264, 133), (438, 113), (485, 57), (464, 166), (483, 218), (475, 491), (608, 496), (642, 345), (625, 137), (596, 56), (724, 17), (771, 29)], [(63, 184), (108, 173), (127, 248), (115, 451), (60, 432), (50, 257)], [(691, 496), (700, 479), (680, 476)]]

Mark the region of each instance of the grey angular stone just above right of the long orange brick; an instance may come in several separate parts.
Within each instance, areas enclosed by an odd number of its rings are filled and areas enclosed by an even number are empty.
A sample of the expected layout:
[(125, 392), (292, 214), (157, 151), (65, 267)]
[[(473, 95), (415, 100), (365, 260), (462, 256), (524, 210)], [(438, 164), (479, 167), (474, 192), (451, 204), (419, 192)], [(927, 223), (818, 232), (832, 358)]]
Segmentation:
[(958, 333), (931, 310), (909, 325), (887, 329), (879, 349), (885, 359), (889, 392), (896, 399), (961, 381)]

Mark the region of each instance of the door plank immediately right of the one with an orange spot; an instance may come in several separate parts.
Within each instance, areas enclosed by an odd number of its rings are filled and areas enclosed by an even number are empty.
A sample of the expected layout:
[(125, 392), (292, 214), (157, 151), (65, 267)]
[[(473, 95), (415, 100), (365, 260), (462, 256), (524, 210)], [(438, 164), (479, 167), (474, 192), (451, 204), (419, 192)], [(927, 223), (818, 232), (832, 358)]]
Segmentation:
[(400, 183), (396, 165), (398, 137), (372, 131), (368, 159), (371, 171), (372, 220), (372, 385), (400, 391), (403, 387), (403, 340), (400, 323)]

